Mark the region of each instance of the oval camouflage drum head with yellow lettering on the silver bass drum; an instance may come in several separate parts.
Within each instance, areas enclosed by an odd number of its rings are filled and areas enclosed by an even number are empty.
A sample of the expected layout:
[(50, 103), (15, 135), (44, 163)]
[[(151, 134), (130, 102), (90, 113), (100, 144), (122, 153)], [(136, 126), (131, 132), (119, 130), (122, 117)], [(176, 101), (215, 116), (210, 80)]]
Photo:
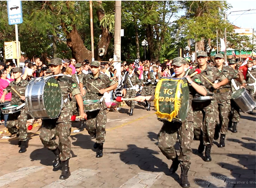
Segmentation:
[(57, 118), (62, 108), (60, 84), (51, 77), (44, 85), (44, 107), (49, 118)]

